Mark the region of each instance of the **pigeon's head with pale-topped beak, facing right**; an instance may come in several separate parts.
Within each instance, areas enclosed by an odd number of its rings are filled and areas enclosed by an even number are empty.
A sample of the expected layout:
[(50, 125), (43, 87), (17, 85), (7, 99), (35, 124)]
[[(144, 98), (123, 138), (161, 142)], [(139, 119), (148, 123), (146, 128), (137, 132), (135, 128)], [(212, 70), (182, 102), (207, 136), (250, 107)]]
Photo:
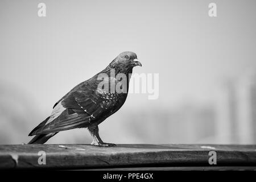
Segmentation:
[(119, 69), (121, 72), (133, 69), (136, 66), (142, 66), (134, 52), (122, 52), (110, 63), (110, 66)]

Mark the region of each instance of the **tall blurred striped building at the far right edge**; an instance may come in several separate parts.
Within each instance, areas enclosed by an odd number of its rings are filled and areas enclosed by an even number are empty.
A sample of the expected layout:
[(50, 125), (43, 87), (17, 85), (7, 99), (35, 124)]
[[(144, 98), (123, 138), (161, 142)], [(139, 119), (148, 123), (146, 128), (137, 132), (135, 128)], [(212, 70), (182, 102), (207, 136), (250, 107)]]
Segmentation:
[(219, 143), (256, 142), (256, 74), (249, 71), (220, 86), (216, 100)]

